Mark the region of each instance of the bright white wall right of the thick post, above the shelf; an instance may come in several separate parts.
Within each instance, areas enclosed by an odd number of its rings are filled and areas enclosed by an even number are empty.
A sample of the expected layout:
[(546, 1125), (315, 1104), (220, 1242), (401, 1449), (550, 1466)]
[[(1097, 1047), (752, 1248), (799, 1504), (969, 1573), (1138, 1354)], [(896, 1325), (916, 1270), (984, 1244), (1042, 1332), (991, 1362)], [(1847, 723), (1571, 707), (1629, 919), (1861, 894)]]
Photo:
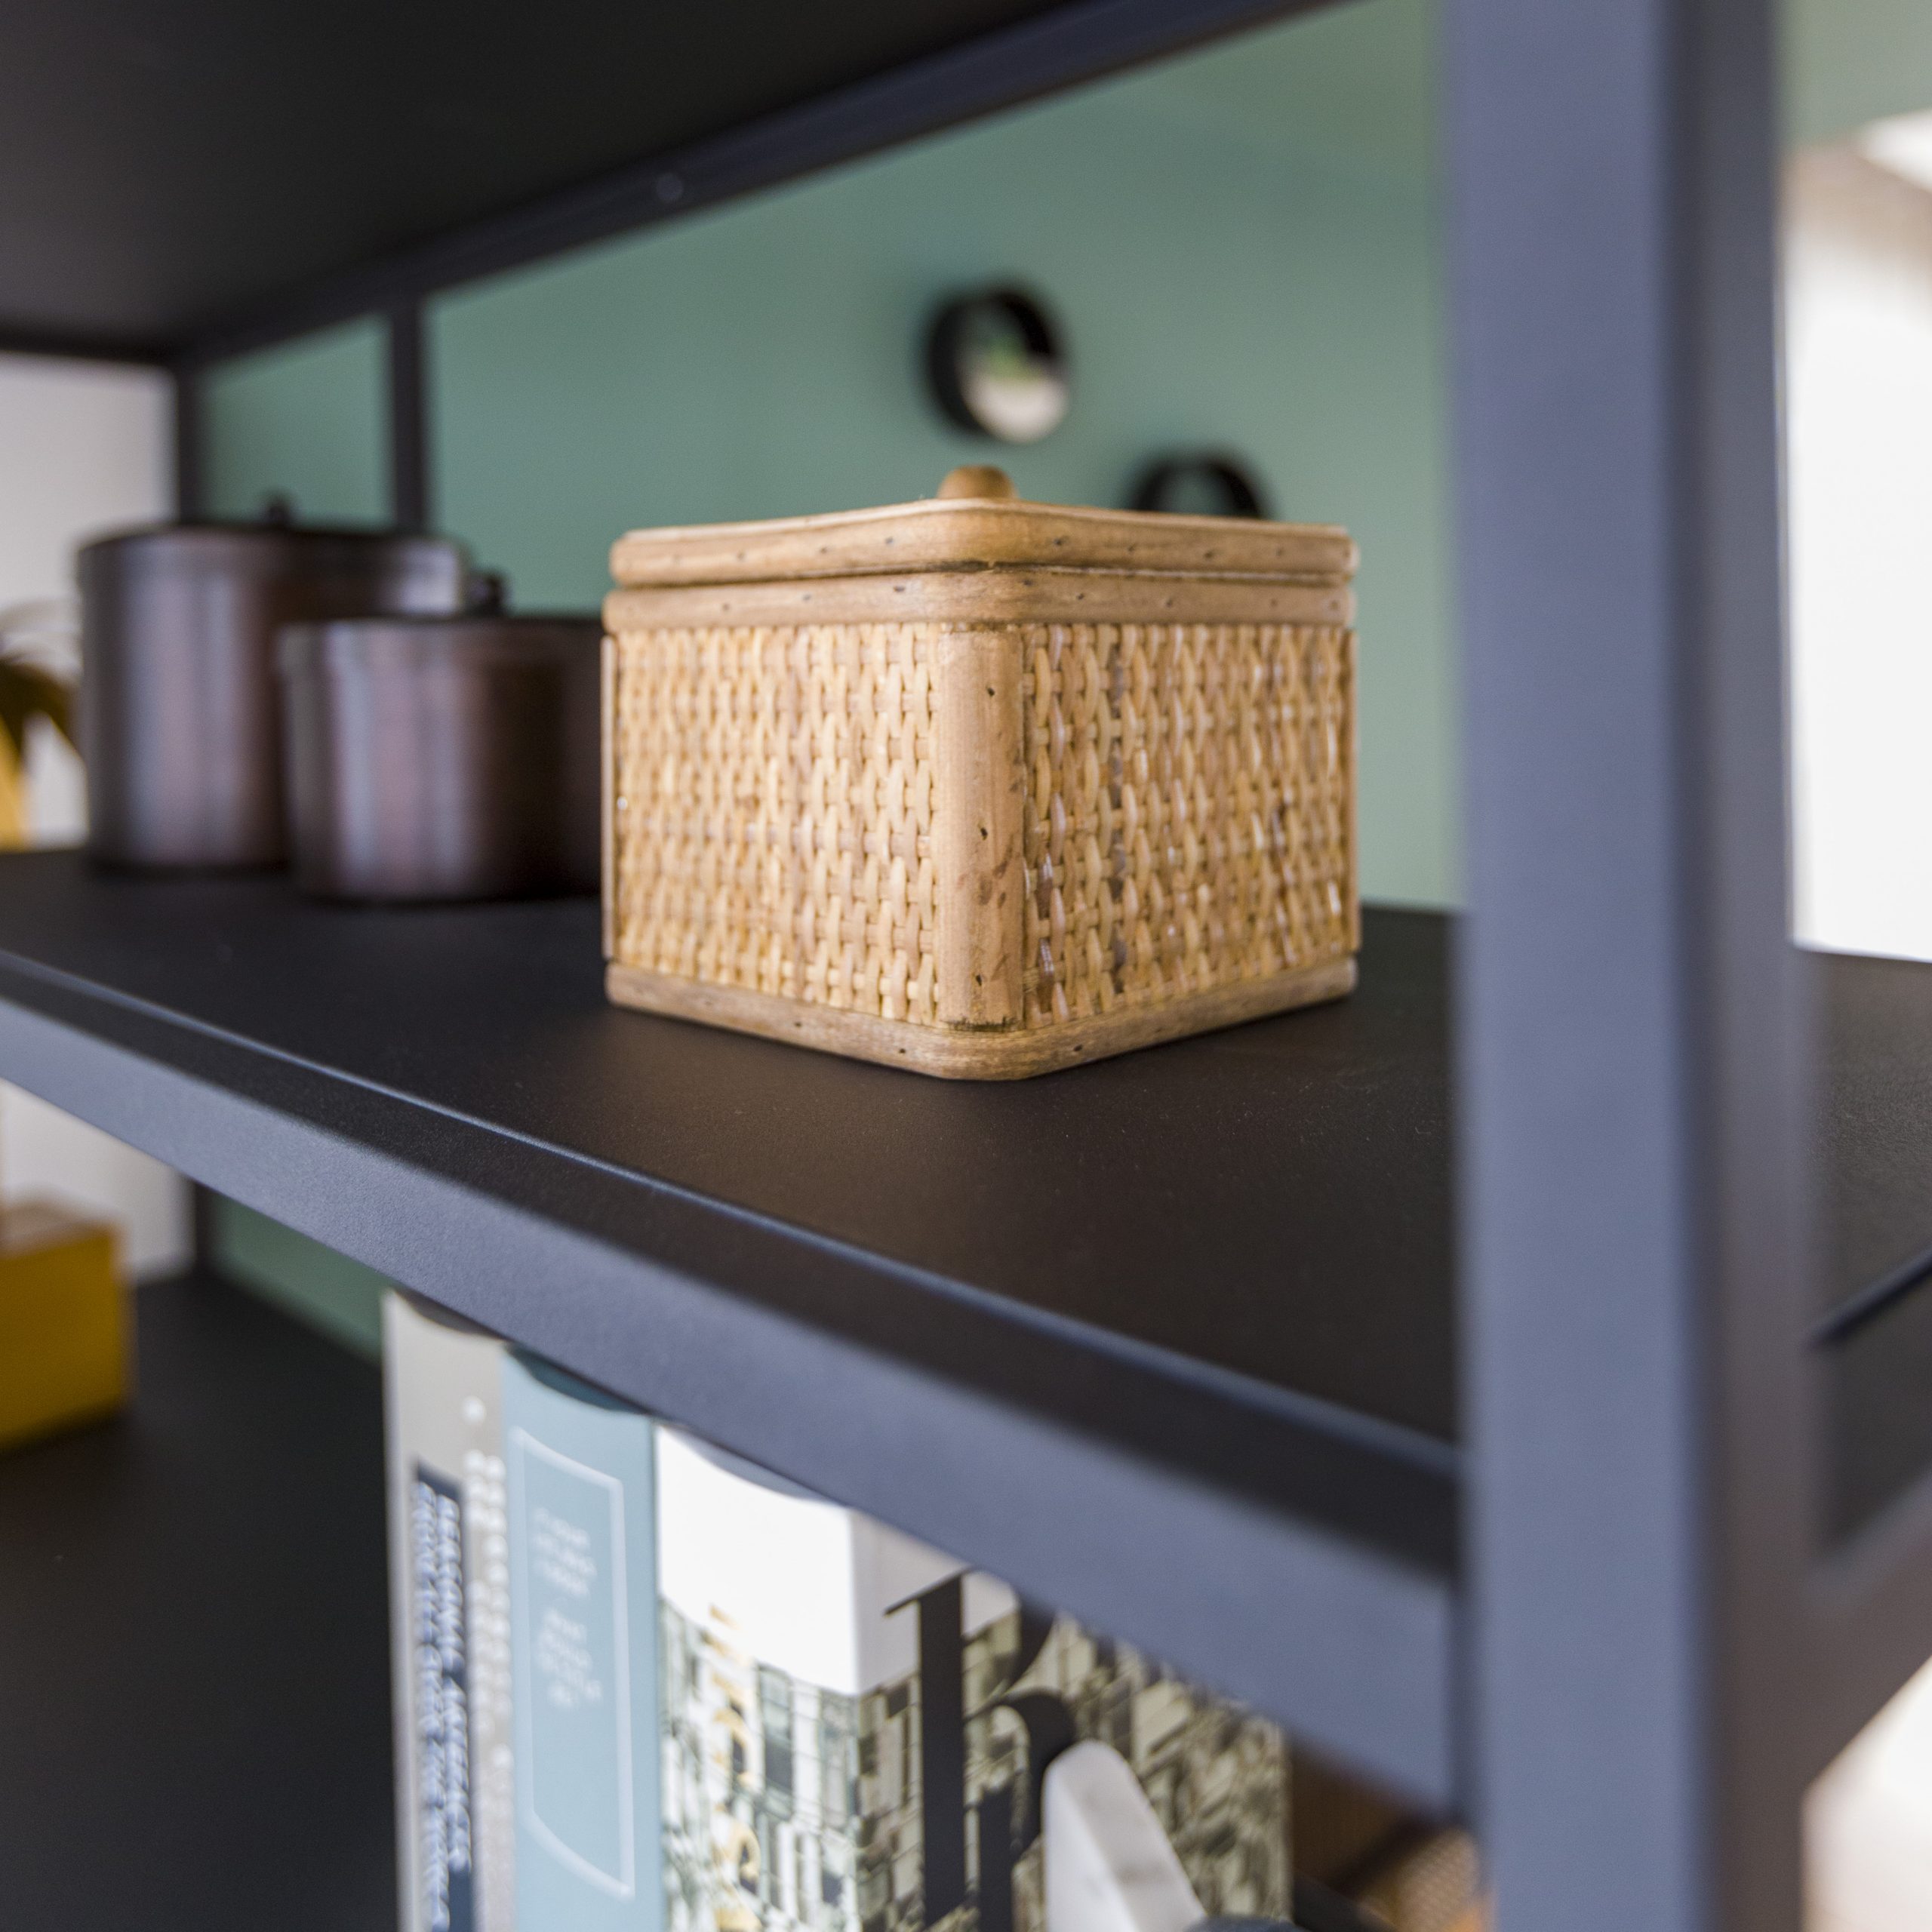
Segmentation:
[(1797, 931), (1932, 958), (1932, 191), (1795, 160), (1785, 354)]

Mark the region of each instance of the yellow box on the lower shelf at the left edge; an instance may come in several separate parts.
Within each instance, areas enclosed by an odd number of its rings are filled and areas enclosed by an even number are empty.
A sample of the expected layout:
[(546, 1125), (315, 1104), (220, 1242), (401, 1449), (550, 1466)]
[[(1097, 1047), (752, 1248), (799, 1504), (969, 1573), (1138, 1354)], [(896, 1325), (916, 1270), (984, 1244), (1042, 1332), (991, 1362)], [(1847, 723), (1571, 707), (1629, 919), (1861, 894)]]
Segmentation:
[(131, 1308), (104, 1221), (0, 1209), (0, 1447), (114, 1414), (128, 1399)]

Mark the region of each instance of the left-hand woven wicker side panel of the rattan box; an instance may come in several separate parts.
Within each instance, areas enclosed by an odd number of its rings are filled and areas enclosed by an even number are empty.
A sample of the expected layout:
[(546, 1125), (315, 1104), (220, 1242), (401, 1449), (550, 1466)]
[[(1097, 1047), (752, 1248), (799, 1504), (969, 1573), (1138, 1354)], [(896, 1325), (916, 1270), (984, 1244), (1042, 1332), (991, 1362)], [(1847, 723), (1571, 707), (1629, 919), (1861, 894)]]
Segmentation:
[(616, 958), (935, 1024), (931, 626), (616, 651)]

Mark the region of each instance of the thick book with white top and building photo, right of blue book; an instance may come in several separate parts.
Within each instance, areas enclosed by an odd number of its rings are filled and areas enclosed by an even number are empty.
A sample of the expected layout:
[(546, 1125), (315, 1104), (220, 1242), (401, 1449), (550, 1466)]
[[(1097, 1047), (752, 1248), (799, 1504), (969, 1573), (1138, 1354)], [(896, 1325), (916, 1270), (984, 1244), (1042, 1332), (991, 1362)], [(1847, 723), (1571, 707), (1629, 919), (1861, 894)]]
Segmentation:
[(665, 1932), (1045, 1932), (1099, 1739), (1204, 1909), (1289, 1915), (1281, 1733), (856, 1511), (659, 1432)]

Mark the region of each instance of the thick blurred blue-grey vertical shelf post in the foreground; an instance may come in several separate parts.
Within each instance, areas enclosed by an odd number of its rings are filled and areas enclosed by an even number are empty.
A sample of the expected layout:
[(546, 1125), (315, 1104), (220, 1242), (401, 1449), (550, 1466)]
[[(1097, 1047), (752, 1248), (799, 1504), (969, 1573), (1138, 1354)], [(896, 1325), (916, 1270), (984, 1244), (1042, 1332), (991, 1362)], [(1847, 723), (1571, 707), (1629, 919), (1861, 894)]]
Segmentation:
[(1768, 0), (1451, 0), (1470, 1781), (1499, 1932), (1795, 1932)]

